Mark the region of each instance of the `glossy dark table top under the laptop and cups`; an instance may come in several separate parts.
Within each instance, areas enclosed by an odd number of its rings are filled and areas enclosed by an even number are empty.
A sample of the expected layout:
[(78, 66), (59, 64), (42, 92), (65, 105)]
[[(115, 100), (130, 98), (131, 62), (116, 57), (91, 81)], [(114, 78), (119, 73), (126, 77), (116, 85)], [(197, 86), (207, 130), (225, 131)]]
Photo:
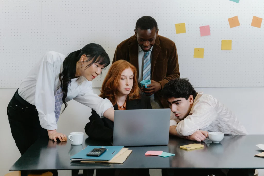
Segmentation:
[[(204, 148), (180, 149), (181, 145), (203, 144)], [(256, 144), (264, 144), (264, 135), (225, 135), (219, 144), (211, 141), (194, 142), (170, 136), (168, 146), (128, 147), (133, 150), (123, 164), (71, 162), (70, 156), (87, 145), (109, 146), (84, 136), (82, 145), (68, 142), (37, 140), (10, 168), (10, 170), (68, 170), (108, 168), (264, 168), (264, 158), (254, 156), (261, 153)], [(149, 150), (174, 153), (175, 156), (145, 156)]]

